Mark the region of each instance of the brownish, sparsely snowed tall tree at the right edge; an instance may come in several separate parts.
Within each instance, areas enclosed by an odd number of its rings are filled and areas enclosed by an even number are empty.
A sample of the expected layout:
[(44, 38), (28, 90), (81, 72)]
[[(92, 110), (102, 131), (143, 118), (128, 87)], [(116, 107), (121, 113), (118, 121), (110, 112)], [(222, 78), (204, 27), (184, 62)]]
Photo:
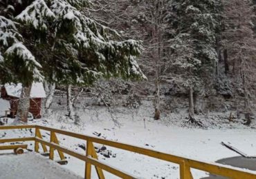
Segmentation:
[(246, 125), (250, 125), (255, 98), (255, 50), (252, 1), (230, 0), (223, 3), (223, 48), (226, 52), (226, 74), (233, 81), (235, 96), (244, 99)]

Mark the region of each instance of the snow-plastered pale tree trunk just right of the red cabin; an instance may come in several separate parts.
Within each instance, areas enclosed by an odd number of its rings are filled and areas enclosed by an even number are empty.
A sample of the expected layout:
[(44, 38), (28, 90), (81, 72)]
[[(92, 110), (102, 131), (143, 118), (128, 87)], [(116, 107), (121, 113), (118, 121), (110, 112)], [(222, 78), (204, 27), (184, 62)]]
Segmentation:
[(44, 114), (50, 114), (51, 110), (50, 107), (53, 103), (53, 96), (55, 92), (55, 83), (44, 83), (44, 89), (46, 91), (46, 99), (44, 101)]

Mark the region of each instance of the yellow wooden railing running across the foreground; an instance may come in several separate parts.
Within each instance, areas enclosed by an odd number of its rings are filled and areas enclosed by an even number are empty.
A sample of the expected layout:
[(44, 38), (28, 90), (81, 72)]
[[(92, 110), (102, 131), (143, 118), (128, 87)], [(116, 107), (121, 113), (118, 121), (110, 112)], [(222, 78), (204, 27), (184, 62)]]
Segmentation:
[[(98, 156), (95, 152), (95, 149), (93, 147), (93, 143), (99, 143), (102, 145), (108, 145), (111, 147), (115, 147), (118, 149), (124, 149), (126, 151), (132, 151), (137, 154), (143, 154), (145, 156), (150, 156), (153, 158), (158, 158), (161, 160), (165, 160), (167, 162), (173, 162), (180, 166), (180, 178), (193, 178), (192, 174), (190, 172), (190, 169), (199, 169), (201, 171), (207, 171), (212, 174), (216, 174), (219, 176), (224, 176), (228, 178), (237, 178), (237, 179), (244, 179), (244, 178), (255, 178), (255, 173), (250, 173), (249, 171), (243, 171), (239, 168), (233, 168), (233, 167), (226, 167), (224, 165), (219, 165), (216, 163), (209, 163), (209, 162), (201, 162), (198, 160), (191, 160), (188, 158), (183, 158), (181, 156), (173, 156), (170, 154), (165, 154), (163, 152), (154, 151), (152, 149), (145, 149), (142, 147), (136, 147), (133, 145), (128, 145), (124, 143), (118, 143), (111, 140), (105, 140), (102, 138), (96, 138), (92, 136), (86, 136), (82, 134), (77, 134), (71, 131), (64, 131), (61, 129), (54, 129), (51, 127), (44, 127), (39, 125), (21, 125), (21, 126), (1, 126), (0, 130), (2, 129), (35, 129), (35, 137), (32, 138), (9, 138), (9, 139), (0, 139), (0, 143), (10, 143), (10, 142), (18, 142), (18, 141), (35, 141), (35, 151), (39, 151), (39, 144), (42, 145), (44, 152), (47, 152), (48, 149), (46, 146), (50, 147), (50, 159), (53, 160), (53, 152), (54, 149), (56, 149), (60, 155), (60, 158), (64, 160), (64, 154), (68, 154), (70, 156), (73, 156), (75, 158), (78, 158), (80, 160), (83, 160), (86, 164), (85, 167), (85, 176), (84, 178), (90, 179), (91, 178), (91, 165), (95, 166), (95, 169), (98, 174), (98, 178), (102, 179), (104, 178), (104, 173), (102, 171), (109, 171), (110, 173), (119, 176), (120, 178), (136, 178), (135, 176), (131, 176), (129, 173), (125, 173), (124, 171), (120, 171), (114, 167), (111, 167), (107, 165), (104, 162), (100, 162), (98, 160)], [(50, 142), (43, 140), (42, 135), (40, 133), (40, 129), (45, 131), (51, 132), (51, 139)], [(86, 154), (80, 154), (76, 151), (73, 151), (72, 149), (67, 149), (65, 147), (60, 146), (60, 143), (57, 140), (57, 134), (62, 134), (66, 136), (71, 136), (74, 138), (79, 138), (86, 141)], [(1, 149), (4, 149), (3, 146), (1, 146)], [(13, 149), (13, 147), (10, 147), (10, 145), (6, 146), (6, 149)]]

